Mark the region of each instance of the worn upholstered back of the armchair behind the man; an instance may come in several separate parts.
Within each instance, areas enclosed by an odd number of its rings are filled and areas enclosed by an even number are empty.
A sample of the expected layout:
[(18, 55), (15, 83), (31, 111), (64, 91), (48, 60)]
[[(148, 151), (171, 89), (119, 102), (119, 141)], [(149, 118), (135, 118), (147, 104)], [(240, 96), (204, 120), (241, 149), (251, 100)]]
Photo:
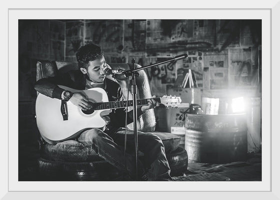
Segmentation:
[[(108, 65), (112, 69), (124, 69), (128, 70), (131, 66), (126, 63), (108, 63)], [(135, 64), (136, 68), (141, 67), (138, 64)], [(41, 60), (37, 61), (37, 77), (36, 80), (41, 78), (47, 78), (51, 76), (55, 76), (58, 73), (65, 73), (69, 70), (78, 70), (77, 63), (74, 62), (65, 62), (65, 61), (48, 61)], [(118, 79), (114, 79), (111, 76), (108, 76), (111, 80), (117, 82), (122, 89), (124, 99), (127, 99), (127, 79), (124, 76), (121, 76)], [(136, 77), (136, 85), (137, 85), (137, 98), (138, 99), (147, 99), (151, 98), (149, 82), (147, 79), (147, 75), (144, 70), (139, 71), (139, 76)], [(132, 100), (132, 94), (129, 88), (129, 100)], [(131, 110), (129, 107), (128, 111)], [(128, 128), (133, 128), (133, 123), (128, 125)], [(153, 132), (155, 128), (155, 116), (153, 109), (147, 110), (140, 119), (137, 121), (137, 130), (142, 132)]]

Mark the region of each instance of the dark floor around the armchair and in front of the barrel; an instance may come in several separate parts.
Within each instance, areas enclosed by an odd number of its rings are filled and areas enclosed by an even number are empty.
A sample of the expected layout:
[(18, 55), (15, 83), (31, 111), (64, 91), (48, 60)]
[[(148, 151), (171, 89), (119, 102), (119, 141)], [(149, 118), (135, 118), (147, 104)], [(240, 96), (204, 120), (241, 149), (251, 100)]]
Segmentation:
[[(19, 145), (19, 181), (43, 181), (37, 165), (37, 159), (40, 157), (38, 148), (38, 143)], [(261, 181), (261, 153), (248, 154), (246, 161), (227, 164), (189, 162), (187, 171), (173, 179), (174, 181)]]

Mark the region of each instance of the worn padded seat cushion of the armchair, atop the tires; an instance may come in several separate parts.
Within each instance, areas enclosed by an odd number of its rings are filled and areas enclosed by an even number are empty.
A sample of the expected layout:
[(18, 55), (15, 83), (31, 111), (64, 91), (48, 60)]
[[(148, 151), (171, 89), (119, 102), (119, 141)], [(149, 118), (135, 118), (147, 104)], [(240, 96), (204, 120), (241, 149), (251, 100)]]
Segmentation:
[[(164, 145), (165, 153), (168, 154), (176, 150), (180, 143), (180, 137), (171, 133), (151, 132), (158, 136)], [(139, 156), (143, 154), (139, 152)], [(65, 162), (87, 162), (101, 161), (100, 158), (90, 146), (85, 146), (75, 140), (59, 142), (55, 145), (44, 144), (41, 146), (41, 157), (51, 161)]]

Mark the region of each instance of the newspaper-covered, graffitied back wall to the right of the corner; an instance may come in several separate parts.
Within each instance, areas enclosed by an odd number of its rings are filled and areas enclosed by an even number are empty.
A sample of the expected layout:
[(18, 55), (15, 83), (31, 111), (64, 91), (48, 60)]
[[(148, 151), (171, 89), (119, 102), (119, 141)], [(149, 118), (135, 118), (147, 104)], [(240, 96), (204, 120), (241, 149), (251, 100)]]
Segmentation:
[(99, 45), (107, 62), (145, 66), (187, 53), (188, 58), (146, 69), (152, 94), (172, 87), (179, 68), (195, 73), (198, 87), (222, 90), (259, 89), (260, 20), (74, 20), (66, 21), (65, 60), (75, 61), (83, 44)]

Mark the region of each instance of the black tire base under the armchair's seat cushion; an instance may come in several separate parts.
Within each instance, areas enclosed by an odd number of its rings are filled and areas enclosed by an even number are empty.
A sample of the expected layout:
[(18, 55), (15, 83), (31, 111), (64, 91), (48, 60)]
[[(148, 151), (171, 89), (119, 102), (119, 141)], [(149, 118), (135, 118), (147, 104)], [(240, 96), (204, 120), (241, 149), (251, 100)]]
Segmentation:
[[(166, 154), (170, 175), (181, 176), (187, 169), (187, 153), (178, 147)], [(123, 174), (106, 161), (62, 162), (38, 159), (41, 181), (123, 181)]]

